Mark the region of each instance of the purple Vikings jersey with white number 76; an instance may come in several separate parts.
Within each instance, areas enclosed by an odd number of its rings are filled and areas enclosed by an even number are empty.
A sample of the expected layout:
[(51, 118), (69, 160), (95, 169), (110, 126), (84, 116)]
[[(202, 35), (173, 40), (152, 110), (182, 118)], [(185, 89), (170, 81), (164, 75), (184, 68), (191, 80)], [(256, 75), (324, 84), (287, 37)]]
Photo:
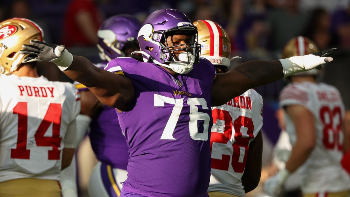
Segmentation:
[(132, 107), (118, 113), (130, 153), (123, 190), (206, 196), (214, 66), (201, 59), (191, 72), (174, 77), (154, 63), (117, 58), (105, 70), (130, 78), (135, 92)]

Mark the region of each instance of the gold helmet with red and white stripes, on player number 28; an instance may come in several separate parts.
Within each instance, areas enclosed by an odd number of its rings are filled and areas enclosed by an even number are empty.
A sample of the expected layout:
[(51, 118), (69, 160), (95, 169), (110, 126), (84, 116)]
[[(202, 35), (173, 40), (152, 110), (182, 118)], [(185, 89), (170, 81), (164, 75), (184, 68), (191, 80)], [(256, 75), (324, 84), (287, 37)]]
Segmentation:
[(225, 30), (216, 22), (198, 20), (193, 23), (198, 29), (201, 57), (214, 65), (230, 66), (231, 42)]

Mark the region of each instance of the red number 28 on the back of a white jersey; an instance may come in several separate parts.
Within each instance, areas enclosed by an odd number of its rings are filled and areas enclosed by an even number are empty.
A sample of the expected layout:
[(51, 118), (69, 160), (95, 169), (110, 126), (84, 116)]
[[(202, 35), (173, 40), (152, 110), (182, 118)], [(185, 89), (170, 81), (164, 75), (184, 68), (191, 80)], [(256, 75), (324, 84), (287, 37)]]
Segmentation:
[[(213, 142), (226, 144), (232, 137), (232, 117), (228, 111), (221, 109), (212, 110), (213, 122), (216, 123), (217, 120), (225, 121), (224, 133), (212, 132), (210, 137), (210, 150), (212, 149)], [(240, 129), (241, 127), (246, 127), (248, 137), (243, 137)], [(254, 138), (253, 131), (254, 125), (252, 118), (239, 116), (233, 122), (233, 128), (235, 129), (235, 143), (232, 144), (232, 168), (235, 172), (242, 173), (245, 168), (245, 163), (247, 161), (247, 154), (249, 150), (249, 141)], [(245, 149), (243, 155), (243, 162), (239, 162), (240, 158), (240, 147)], [(229, 170), (231, 155), (222, 155), (222, 159), (211, 158), (211, 168), (219, 170)]]

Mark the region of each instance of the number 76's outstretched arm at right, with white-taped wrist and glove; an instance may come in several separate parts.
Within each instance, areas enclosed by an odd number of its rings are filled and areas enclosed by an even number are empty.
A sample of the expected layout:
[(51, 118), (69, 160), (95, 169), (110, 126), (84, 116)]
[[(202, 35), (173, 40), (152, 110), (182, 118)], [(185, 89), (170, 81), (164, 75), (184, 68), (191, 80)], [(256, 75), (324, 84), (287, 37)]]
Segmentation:
[(227, 73), (217, 74), (212, 86), (212, 106), (221, 106), (250, 88), (263, 86), (313, 68), (321, 69), (320, 64), (333, 60), (328, 56), (335, 51), (336, 48), (332, 48), (281, 60), (253, 60), (241, 63)]

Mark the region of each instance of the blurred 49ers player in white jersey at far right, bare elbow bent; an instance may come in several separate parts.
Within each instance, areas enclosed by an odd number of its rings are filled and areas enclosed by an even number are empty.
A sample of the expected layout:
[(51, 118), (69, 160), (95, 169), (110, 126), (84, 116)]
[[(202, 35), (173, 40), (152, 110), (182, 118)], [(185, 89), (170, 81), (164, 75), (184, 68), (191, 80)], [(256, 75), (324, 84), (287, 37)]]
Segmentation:
[[(317, 52), (315, 43), (298, 36), (287, 43), (283, 57), (313, 52)], [(265, 182), (270, 195), (276, 195), (288, 175), (301, 168), (304, 197), (348, 196), (349, 175), (340, 165), (344, 104), (335, 87), (316, 82), (317, 74), (313, 69), (290, 76), (291, 83), (280, 93), (293, 149), (285, 169)]]

